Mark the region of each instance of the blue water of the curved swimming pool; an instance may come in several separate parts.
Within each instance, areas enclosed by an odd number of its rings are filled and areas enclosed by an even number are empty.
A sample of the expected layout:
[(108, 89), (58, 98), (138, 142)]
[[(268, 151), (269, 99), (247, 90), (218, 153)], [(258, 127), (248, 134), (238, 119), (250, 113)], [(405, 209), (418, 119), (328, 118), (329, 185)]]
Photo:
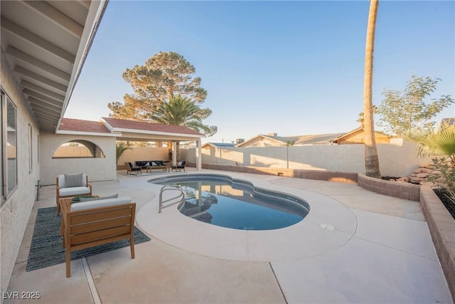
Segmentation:
[(309, 204), (290, 194), (260, 189), (250, 182), (218, 174), (185, 174), (151, 180), (177, 184), (185, 192), (179, 211), (198, 221), (232, 229), (269, 230), (298, 223)]

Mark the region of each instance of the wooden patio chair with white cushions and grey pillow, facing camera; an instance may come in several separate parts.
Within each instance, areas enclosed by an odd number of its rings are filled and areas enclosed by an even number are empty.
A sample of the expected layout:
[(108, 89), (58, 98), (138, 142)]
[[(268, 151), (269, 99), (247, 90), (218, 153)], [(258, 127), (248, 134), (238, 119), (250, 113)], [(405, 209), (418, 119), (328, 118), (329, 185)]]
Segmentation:
[(92, 185), (88, 183), (87, 174), (60, 174), (56, 178), (57, 214), (60, 214), (60, 199), (77, 195), (92, 195)]

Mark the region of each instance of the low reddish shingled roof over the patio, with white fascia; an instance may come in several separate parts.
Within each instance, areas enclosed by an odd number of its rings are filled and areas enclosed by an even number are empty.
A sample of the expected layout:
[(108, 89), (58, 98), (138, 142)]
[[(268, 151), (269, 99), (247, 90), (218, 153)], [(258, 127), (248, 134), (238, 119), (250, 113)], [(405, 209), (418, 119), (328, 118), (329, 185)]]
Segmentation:
[(58, 134), (114, 136), (117, 140), (178, 142), (196, 141), (205, 135), (180, 125), (102, 117), (100, 122), (63, 118)]

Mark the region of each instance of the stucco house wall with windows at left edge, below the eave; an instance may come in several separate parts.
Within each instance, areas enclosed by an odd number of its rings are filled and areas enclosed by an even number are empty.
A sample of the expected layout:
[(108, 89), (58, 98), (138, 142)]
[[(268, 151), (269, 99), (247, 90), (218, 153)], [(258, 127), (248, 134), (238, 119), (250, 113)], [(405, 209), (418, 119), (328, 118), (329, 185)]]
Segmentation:
[[(1, 51), (0, 57), (0, 85), (11, 98), (14, 105), (16, 105), (16, 148), (18, 153), (17, 188), (6, 201), (2, 202), (0, 208), (0, 289), (3, 294), (8, 288), (23, 233), (36, 198), (35, 185), (40, 176), (40, 166), (38, 164), (38, 126), (28, 111), (26, 101), (23, 99), (21, 90), (16, 83), (9, 64), (6, 62), (6, 56), (3, 51)], [(28, 168), (28, 124), (32, 126), (33, 135), (32, 172), (29, 172)]]

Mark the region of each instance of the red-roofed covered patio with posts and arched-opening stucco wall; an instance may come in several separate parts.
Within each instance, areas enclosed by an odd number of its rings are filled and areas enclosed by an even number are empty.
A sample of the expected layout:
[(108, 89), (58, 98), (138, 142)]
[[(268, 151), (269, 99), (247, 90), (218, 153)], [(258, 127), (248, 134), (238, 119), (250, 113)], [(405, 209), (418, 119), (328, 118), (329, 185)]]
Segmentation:
[[(41, 133), (41, 184), (55, 184), (55, 177), (63, 173), (84, 172), (90, 182), (117, 179), (117, 140), (134, 142), (172, 142), (176, 151), (178, 142), (196, 142), (196, 170), (202, 167), (200, 138), (205, 135), (188, 127), (161, 125), (137, 120), (119, 120), (103, 117), (99, 122), (63, 118), (57, 132)], [(93, 147), (92, 157), (56, 157), (59, 147), (72, 142)], [(90, 149), (90, 148), (89, 148)], [(177, 162), (176, 153), (172, 163)]]

